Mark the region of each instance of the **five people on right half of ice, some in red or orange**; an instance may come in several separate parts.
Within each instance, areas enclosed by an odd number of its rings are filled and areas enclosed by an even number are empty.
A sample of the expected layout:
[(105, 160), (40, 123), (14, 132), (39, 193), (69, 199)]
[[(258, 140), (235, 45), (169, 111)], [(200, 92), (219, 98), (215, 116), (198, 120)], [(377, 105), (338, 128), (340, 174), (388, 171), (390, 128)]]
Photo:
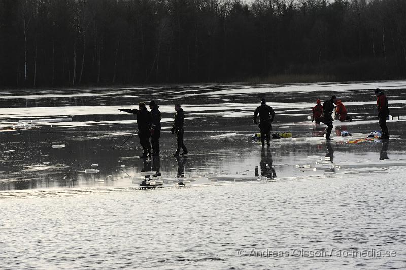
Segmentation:
[[(375, 89), (375, 95), (377, 96), (377, 109), (379, 117), (379, 125), (382, 129), (381, 139), (389, 139), (388, 127), (386, 125), (386, 120), (389, 116), (388, 99), (381, 89)], [(313, 118), (312, 122), (315, 121), (316, 124), (323, 123), (327, 126), (325, 136), (326, 141), (332, 141), (330, 138), (331, 130), (333, 129), (333, 117), (332, 113), (335, 111), (335, 119), (340, 122), (350, 120), (351, 117), (347, 114), (347, 109), (340, 99), (337, 99), (335, 95), (331, 96), (331, 99), (326, 100), (323, 105), (321, 105), (320, 99), (317, 100), (317, 104), (312, 109)], [(257, 124), (257, 116), (259, 114), (260, 122), (259, 129), (261, 131), (261, 142), (262, 146), (265, 145), (265, 138), (267, 145), (269, 146), (270, 141), (270, 131), (272, 130), (271, 123), (275, 118), (275, 111), (272, 107), (268, 106), (265, 99), (261, 99), (261, 105), (258, 106), (254, 111), (254, 124)]]

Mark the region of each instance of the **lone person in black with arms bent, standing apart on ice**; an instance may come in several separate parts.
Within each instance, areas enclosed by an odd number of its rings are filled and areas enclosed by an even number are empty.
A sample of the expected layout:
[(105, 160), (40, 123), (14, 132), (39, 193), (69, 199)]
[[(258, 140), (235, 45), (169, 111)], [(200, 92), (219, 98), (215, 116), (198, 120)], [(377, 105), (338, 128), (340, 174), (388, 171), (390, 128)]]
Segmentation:
[(265, 145), (265, 135), (266, 143), (269, 147), (270, 131), (272, 130), (271, 123), (274, 121), (275, 112), (272, 107), (266, 105), (265, 99), (261, 99), (261, 105), (255, 109), (254, 112), (254, 124), (257, 124), (257, 115), (259, 113), (259, 130), (261, 131), (261, 142), (262, 147)]

